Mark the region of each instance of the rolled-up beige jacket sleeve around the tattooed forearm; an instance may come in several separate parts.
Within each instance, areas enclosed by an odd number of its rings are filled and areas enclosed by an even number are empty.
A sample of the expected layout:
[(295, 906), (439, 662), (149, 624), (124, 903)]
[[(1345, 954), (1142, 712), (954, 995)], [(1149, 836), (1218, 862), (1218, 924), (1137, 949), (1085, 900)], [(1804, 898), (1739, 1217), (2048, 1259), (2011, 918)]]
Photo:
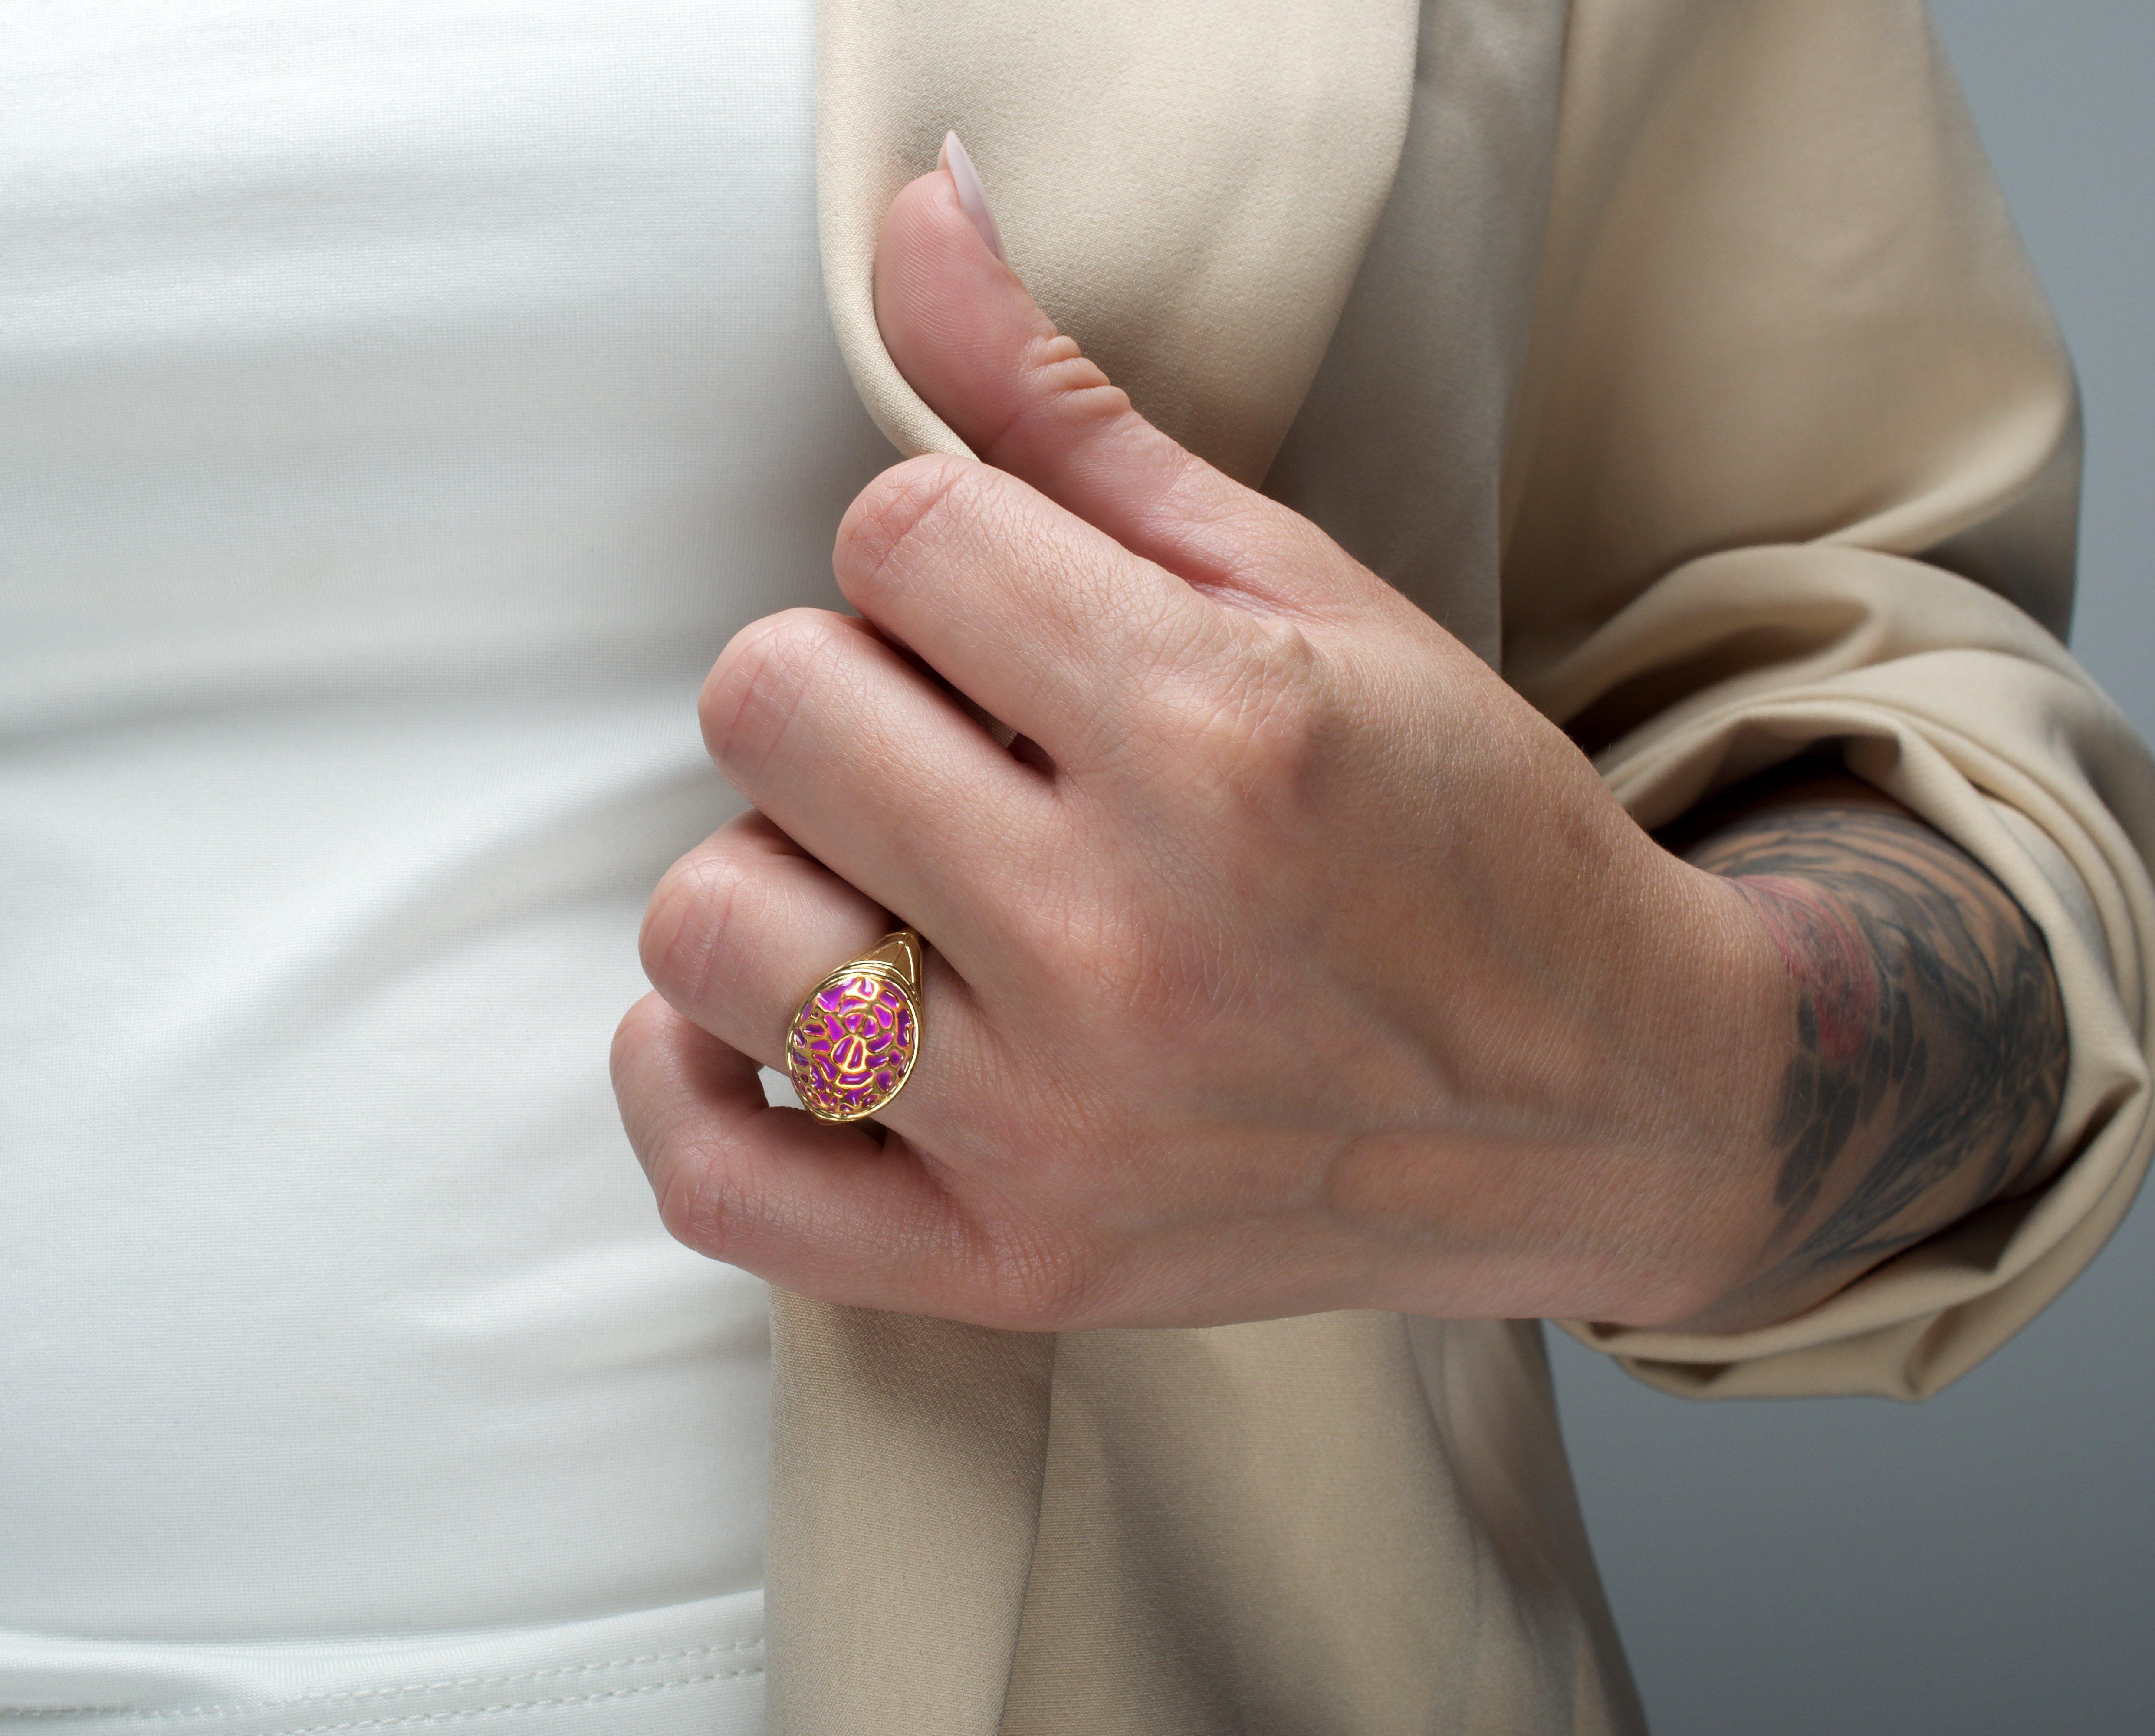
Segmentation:
[(2034, 1193), (1778, 1326), (1571, 1324), (1692, 1395), (1959, 1376), (2149, 1162), (2155, 763), (2064, 651), (2071, 367), (1909, 0), (1575, 0), (1506, 464), (1504, 669), (1646, 826), (1815, 744), (2041, 925)]

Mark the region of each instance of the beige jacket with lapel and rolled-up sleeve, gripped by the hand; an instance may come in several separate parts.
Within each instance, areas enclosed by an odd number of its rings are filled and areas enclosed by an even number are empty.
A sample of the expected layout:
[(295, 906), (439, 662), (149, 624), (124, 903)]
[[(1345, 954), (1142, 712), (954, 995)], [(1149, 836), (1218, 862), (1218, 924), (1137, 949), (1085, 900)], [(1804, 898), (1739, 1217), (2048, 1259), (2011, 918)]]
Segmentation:
[[(2077, 412), (1914, 0), (821, 0), (825, 276), (972, 147), (1041, 302), (1310, 513), (1653, 826), (1815, 742), (2041, 923), (2047, 1184), (1679, 1393), (1920, 1397), (2095, 1255), (2151, 1143), (2155, 768), (2067, 656)], [(1472, 815), (1461, 815), (1472, 824)], [(778, 1303), (784, 1736), (1636, 1730), (1539, 1326), (1032, 1337)]]

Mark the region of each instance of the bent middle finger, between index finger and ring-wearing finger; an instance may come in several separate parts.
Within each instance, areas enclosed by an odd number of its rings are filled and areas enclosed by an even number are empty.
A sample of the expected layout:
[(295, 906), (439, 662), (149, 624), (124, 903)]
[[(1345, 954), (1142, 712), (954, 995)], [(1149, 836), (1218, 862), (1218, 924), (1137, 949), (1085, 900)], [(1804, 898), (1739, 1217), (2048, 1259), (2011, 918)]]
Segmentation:
[(728, 781), (961, 973), (993, 947), (1002, 893), (1060, 843), (1041, 774), (845, 615), (800, 608), (741, 630), (700, 709)]

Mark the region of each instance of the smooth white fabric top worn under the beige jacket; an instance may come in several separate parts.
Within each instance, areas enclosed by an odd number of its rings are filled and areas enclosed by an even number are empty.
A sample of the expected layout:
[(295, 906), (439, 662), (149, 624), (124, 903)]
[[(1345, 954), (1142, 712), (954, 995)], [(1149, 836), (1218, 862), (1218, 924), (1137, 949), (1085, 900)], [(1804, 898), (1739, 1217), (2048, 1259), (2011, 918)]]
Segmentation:
[(0, 1712), (752, 1730), (765, 1296), (606, 1052), (890, 461), (808, 2), (4, 35)]

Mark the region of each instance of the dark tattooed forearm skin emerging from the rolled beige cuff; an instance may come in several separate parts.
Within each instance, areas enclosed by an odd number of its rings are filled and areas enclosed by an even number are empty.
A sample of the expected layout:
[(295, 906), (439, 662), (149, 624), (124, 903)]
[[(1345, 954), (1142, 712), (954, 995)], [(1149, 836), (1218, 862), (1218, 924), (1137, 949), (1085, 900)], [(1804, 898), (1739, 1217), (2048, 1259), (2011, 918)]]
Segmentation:
[(1847, 779), (1685, 856), (1743, 888), (1797, 988), (1778, 1266), (1855, 1277), (2028, 1177), (2064, 1091), (2041, 932), (1957, 845)]

